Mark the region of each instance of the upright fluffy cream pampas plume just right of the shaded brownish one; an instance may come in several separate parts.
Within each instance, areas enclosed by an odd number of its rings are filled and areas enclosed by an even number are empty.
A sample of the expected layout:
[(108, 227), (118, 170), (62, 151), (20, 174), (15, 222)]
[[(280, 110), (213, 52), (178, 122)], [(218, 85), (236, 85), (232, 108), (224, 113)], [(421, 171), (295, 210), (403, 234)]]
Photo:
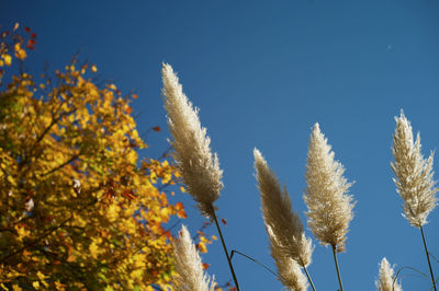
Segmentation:
[(352, 183), (342, 176), (344, 166), (334, 160), (327, 139), (315, 124), (309, 137), (306, 164), (306, 216), (315, 237), (323, 245), (330, 245), (337, 253), (345, 251), (346, 234), (353, 218)]

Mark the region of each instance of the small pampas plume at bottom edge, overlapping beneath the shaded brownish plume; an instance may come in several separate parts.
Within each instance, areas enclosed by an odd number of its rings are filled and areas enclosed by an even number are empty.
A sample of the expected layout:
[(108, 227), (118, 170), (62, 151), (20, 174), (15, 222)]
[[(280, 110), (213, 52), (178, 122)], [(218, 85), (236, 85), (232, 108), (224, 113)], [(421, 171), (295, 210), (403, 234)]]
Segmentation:
[(278, 280), (291, 291), (306, 291), (308, 282), (301, 270), (301, 266), (291, 257), (285, 256), (281, 252), (275, 236), (270, 229), (267, 229), (270, 237), (271, 256), (274, 258), (278, 268)]

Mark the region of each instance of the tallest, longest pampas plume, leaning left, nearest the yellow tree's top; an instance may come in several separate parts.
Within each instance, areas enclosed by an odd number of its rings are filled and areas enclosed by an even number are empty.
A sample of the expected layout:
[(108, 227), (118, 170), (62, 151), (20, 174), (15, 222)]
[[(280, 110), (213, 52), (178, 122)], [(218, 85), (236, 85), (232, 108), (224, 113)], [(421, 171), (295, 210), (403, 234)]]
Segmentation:
[(223, 188), (223, 171), (216, 153), (212, 153), (206, 129), (201, 127), (198, 108), (193, 108), (168, 63), (161, 69), (164, 101), (168, 126), (172, 133), (172, 153), (189, 194), (199, 202), (202, 214), (212, 218), (213, 202)]

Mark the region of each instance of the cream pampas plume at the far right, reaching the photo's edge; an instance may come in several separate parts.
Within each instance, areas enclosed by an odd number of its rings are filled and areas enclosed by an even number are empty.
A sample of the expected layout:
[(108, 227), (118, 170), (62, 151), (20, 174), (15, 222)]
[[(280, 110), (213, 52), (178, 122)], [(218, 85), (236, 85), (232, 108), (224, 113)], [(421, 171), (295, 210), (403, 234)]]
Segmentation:
[(420, 137), (413, 138), (410, 123), (401, 112), (395, 117), (396, 130), (393, 135), (392, 170), (396, 176), (393, 181), (396, 184), (397, 193), (404, 200), (404, 217), (415, 228), (426, 224), (428, 214), (435, 209), (438, 202), (432, 172), (434, 152), (425, 160), (420, 153)]

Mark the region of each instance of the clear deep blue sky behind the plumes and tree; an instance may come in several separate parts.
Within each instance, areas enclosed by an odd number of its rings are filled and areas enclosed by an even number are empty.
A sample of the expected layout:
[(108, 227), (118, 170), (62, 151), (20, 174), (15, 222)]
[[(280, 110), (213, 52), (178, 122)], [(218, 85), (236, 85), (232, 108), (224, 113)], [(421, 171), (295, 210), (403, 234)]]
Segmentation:
[[(346, 177), (356, 182), (354, 219), (339, 264), (345, 289), (360, 291), (374, 289), (383, 256), (428, 272), (419, 231), (401, 216), (390, 162), (394, 116), (402, 108), (420, 131), (424, 154), (439, 146), (438, 15), (434, 0), (0, 3), (2, 25), (20, 22), (37, 34), (32, 70), (43, 70), (45, 61), (63, 68), (80, 50), (102, 79), (115, 80), (123, 92), (135, 90), (140, 132), (166, 128), (160, 66), (171, 63), (201, 109), (224, 170), (217, 206), (228, 221), (227, 244), (271, 268), (252, 149), (263, 153), (305, 221), (307, 143), (319, 123)], [(153, 132), (144, 154), (159, 156), (168, 137)], [(188, 195), (176, 199), (185, 203), (184, 223), (195, 232), (203, 218)], [(427, 242), (439, 257), (439, 209), (429, 221)], [(315, 245), (315, 286), (336, 290), (330, 248)], [(218, 282), (230, 279), (219, 243), (203, 259)], [(254, 263), (236, 257), (234, 264), (243, 290), (281, 289)], [(432, 264), (439, 278), (439, 264)], [(405, 290), (429, 290), (427, 280), (403, 273)]]

